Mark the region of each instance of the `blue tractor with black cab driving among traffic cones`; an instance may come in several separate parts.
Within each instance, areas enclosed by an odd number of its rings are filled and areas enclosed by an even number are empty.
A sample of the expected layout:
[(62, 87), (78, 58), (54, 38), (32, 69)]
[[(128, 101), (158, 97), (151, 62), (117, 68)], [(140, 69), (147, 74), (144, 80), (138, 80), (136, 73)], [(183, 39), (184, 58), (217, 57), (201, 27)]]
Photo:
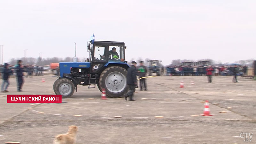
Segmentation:
[(124, 42), (88, 41), (89, 60), (60, 62), (60, 76), (53, 84), (55, 94), (71, 97), (77, 85), (106, 89), (108, 97), (122, 97), (128, 91)]

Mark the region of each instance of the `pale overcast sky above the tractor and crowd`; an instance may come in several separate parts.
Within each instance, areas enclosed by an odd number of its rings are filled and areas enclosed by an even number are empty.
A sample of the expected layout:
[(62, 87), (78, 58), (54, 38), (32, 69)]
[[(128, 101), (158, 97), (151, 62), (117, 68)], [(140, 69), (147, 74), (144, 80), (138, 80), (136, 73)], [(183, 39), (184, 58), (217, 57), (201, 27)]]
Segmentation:
[(88, 58), (87, 41), (122, 41), (126, 60), (255, 58), (255, 0), (0, 0), (4, 62)]

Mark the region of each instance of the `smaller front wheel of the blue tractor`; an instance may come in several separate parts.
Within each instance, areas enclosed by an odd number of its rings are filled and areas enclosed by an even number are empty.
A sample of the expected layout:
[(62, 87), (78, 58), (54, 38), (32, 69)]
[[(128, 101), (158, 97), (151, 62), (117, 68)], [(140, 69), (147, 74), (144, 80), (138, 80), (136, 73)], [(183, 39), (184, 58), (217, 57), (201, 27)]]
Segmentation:
[(55, 94), (61, 94), (62, 98), (70, 98), (75, 91), (75, 86), (71, 80), (62, 78), (54, 82), (53, 90)]

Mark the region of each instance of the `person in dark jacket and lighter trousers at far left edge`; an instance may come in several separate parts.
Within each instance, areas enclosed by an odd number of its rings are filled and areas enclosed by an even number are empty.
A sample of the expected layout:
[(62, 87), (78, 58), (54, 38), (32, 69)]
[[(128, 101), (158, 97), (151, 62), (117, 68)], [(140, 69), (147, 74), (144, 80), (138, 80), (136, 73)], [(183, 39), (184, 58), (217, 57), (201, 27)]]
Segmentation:
[[(3, 84), (1, 87), (1, 92), (9, 92), (9, 91), (7, 91), (7, 88), (9, 86), (9, 76), (12, 74), (12, 70), (10, 70), (8, 66), (9, 66), (8, 63), (4, 64)], [(5, 86), (5, 88), (4, 88), (4, 86)]]

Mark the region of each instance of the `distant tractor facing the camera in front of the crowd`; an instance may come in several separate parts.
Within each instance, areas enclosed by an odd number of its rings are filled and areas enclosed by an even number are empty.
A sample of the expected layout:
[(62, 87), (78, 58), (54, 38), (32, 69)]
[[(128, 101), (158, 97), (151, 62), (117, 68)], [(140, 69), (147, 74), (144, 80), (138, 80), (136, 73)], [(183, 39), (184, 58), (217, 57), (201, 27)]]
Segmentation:
[(152, 76), (153, 73), (156, 73), (157, 76), (161, 76), (162, 72), (162, 61), (160, 60), (149, 60), (148, 61), (148, 69), (149, 69), (149, 76)]

